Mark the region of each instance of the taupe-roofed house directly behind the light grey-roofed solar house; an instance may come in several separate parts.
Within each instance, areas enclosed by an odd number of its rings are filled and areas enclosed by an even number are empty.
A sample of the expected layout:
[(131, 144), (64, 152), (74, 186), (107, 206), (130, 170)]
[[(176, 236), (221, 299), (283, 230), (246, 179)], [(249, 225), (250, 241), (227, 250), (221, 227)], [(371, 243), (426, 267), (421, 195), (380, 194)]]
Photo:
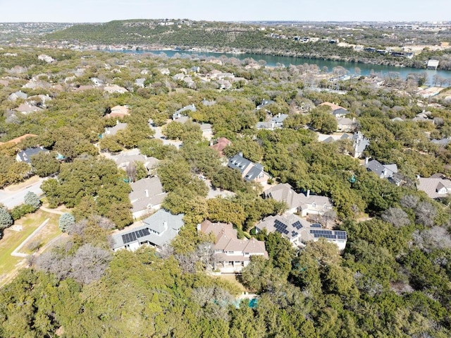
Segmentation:
[(167, 195), (163, 191), (160, 179), (156, 176), (140, 179), (131, 183), (130, 186), (132, 187), (132, 192), (128, 197), (130, 198), (130, 203), (132, 203), (132, 215), (135, 219), (159, 210)]

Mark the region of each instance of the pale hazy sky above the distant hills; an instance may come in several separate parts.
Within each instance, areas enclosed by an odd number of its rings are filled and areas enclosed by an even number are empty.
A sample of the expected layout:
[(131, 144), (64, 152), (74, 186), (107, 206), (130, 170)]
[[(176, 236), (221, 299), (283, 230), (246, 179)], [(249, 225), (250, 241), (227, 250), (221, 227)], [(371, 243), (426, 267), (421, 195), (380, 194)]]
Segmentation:
[(451, 0), (0, 0), (0, 22), (192, 20), (441, 21)]

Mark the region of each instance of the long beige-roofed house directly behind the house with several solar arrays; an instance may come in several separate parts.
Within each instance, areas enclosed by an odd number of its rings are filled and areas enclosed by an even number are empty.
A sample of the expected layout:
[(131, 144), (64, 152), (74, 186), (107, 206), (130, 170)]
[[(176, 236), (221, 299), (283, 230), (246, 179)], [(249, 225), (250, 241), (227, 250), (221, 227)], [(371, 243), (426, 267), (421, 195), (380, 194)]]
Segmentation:
[(285, 202), (288, 205), (288, 214), (299, 212), (302, 217), (307, 215), (324, 215), (333, 210), (333, 203), (330, 198), (321, 195), (311, 195), (307, 193), (296, 193), (289, 183), (279, 183), (264, 191), (266, 198), (273, 198), (278, 202)]

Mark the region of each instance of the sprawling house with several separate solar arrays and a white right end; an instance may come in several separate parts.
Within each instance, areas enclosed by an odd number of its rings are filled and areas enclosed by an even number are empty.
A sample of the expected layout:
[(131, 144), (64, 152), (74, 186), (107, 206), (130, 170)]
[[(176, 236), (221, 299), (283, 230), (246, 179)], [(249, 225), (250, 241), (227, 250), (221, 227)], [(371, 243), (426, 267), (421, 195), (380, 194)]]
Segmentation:
[(295, 247), (302, 247), (308, 241), (324, 238), (330, 243), (335, 243), (342, 251), (345, 250), (347, 241), (346, 231), (323, 229), (321, 224), (311, 224), (296, 215), (268, 216), (255, 226), (257, 233), (263, 229), (267, 232), (277, 231)]

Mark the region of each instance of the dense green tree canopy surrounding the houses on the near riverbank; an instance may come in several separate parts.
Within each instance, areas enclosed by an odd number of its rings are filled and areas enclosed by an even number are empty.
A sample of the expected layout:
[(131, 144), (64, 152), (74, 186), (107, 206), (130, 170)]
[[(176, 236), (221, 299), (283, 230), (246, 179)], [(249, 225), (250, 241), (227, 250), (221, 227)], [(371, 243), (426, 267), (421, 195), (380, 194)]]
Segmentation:
[[(81, 39), (82, 28), (77, 31)], [(226, 38), (221, 34), (212, 36)], [(257, 46), (259, 40), (249, 41)], [(39, 60), (41, 54), (56, 61)], [(451, 336), (450, 198), (433, 200), (415, 185), (417, 175), (451, 176), (451, 146), (433, 142), (451, 136), (446, 89), (425, 99), (414, 76), (362, 77), (341, 83), (338, 93), (328, 90), (315, 66), (266, 68), (226, 57), (5, 48), (0, 65), (1, 186), (32, 174), (51, 176), (42, 184), (47, 206), (65, 205), (73, 215), (63, 240), (30, 255), (28, 267), (0, 289), (0, 337)], [(187, 71), (197, 66), (199, 71)], [(209, 76), (214, 71), (240, 80), (221, 89)], [(195, 86), (178, 79), (180, 73)], [(125, 92), (95, 87), (93, 78)], [(144, 78), (142, 86), (138, 78)], [(19, 90), (27, 99), (11, 99)], [(256, 109), (264, 99), (272, 100), (267, 111)], [(42, 110), (22, 114), (17, 108), (25, 102)], [(333, 135), (337, 128), (323, 102), (347, 109), (356, 131), (370, 140), (362, 159), (351, 155), (351, 139), (319, 140), (320, 132)], [(187, 111), (190, 121), (172, 121), (189, 104), (197, 107)], [(129, 107), (130, 114), (109, 118), (116, 105)], [(278, 114), (288, 115), (283, 128), (255, 127)], [(426, 117), (418, 120), (419, 114)], [(127, 126), (99, 137), (118, 123)], [(231, 141), (224, 155), (242, 152), (263, 164), (269, 183), (330, 198), (333, 217), (315, 222), (347, 231), (345, 251), (323, 239), (292, 248), (278, 233), (255, 234), (260, 219), (287, 206), (262, 198), (258, 184), (224, 166), (199, 123), (211, 124), (212, 141)], [(7, 143), (25, 134), (35, 136)], [(16, 162), (18, 151), (37, 145), (51, 155)], [(156, 171), (137, 164), (130, 173), (109, 158), (131, 149), (159, 159)], [(56, 161), (57, 154), (62, 159)], [(397, 164), (400, 184), (367, 171), (365, 157)], [(113, 252), (111, 231), (133, 222), (130, 181), (149, 175), (158, 176), (168, 193), (163, 208), (183, 213), (185, 225), (159, 251)], [(199, 175), (230, 196), (209, 198)], [(3, 231), (3, 216), (11, 210), (0, 209)], [(230, 222), (240, 237), (265, 241), (269, 259), (252, 256), (237, 281), (214, 276), (213, 253), (206, 250), (212, 239), (196, 230), (204, 219)], [(242, 291), (257, 301), (241, 299)]]

